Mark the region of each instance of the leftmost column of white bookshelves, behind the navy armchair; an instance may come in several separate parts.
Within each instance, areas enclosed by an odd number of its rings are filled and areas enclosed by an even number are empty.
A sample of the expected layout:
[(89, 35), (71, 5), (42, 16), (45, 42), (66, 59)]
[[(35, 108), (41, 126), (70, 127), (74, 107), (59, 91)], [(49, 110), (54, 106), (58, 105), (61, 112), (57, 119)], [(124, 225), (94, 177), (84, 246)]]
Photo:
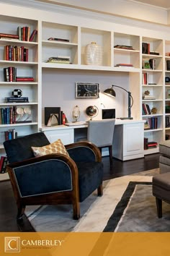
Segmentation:
[[(30, 27), (30, 33), (33, 30), (37, 30), (38, 22), (37, 20), (28, 20), (19, 17), (4, 17), (0, 16), (0, 26), (1, 33), (6, 34), (16, 34), (17, 27)], [(37, 38), (37, 37), (36, 37)], [(9, 51), (10, 47), (10, 51)], [(14, 49), (15, 48), (15, 49)], [(22, 56), (22, 49), (27, 48), (27, 61), (20, 61)], [(16, 54), (17, 51), (17, 55)], [(8, 60), (9, 53), (14, 54)], [(5, 140), (4, 132), (9, 131), (10, 129), (15, 129), (18, 136), (29, 135), (30, 133), (37, 132), (39, 123), (38, 123), (38, 112), (39, 110), (39, 72), (38, 72), (38, 41), (24, 41), (24, 40), (14, 40), (8, 38), (0, 38), (0, 110), (1, 109), (13, 109), (13, 106), (20, 108), (30, 108), (32, 113), (30, 116), (30, 122), (23, 123), (14, 123), (7, 124), (9, 121), (5, 121), (6, 124), (3, 124), (1, 119), (0, 124), (0, 135), (1, 135), (1, 145), (0, 145), (0, 155), (4, 155), (4, 147), (2, 143)], [(17, 69), (17, 77), (34, 77), (34, 82), (4, 82), (4, 68), (15, 67)], [(28, 97), (28, 103), (6, 103), (6, 97), (12, 97), (12, 91), (16, 88), (22, 90), (22, 96)], [(0, 112), (2, 113), (2, 112)], [(2, 115), (2, 114), (1, 114)], [(11, 116), (10, 116), (11, 118)], [(29, 120), (29, 119), (28, 119)], [(4, 174), (1, 174), (4, 176)]]

